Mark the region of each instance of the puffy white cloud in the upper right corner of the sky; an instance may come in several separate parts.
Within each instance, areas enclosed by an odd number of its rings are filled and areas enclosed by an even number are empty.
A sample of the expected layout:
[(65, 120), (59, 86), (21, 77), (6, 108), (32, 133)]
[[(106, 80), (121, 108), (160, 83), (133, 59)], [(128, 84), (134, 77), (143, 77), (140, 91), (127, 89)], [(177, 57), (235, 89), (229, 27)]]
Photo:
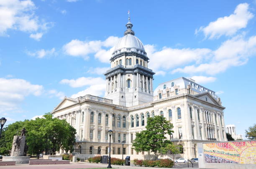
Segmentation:
[(245, 28), (248, 21), (253, 18), (253, 14), (248, 11), (248, 7), (247, 3), (237, 5), (233, 14), (219, 17), (206, 27), (200, 27), (199, 30), (195, 31), (195, 34), (202, 31), (205, 38), (209, 37), (209, 39), (219, 38), (222, 35), (234, 35), (238, 30)]

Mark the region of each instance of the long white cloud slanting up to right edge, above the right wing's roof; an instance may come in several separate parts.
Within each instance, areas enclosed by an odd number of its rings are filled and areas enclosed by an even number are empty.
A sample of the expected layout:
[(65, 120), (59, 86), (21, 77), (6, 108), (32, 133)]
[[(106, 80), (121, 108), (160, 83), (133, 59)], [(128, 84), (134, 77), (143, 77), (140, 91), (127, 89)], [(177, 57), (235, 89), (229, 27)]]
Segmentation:
[(215, 75), (224, 72), (229, 67), (240, 66), (247, 63), (248, 58), (256, 55), (256, 36), (245, 40), (243, 36), (233, 37), (222, 43), (215, 51), (212, 51), (212, 58), (209, 63), (200, 65), (189, 65), (184, 68), (177, 68), (172, 73), (199, 73), (204, 72)]

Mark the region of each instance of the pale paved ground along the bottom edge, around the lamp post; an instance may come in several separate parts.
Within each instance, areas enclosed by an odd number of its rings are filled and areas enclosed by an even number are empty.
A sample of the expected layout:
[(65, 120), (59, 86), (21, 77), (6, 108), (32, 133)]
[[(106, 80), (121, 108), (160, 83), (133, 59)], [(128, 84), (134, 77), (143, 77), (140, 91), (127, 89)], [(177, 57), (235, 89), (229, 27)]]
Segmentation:
[[(93, 163), (81, 162), (81, 163), (53, 164), (53, 165), (18, 164), (15, 166), (0, 166), (0, 169), (86, 169), (86, 168), (97, 168), (97, 167), (107, 167), (107, 166), (108, 164), (93, 164)], [(160, 169), (158, 167), (135, 167), (135, 166), (117, 166), (117, 165), (111, 165), (111, 166), (112, 168), (116, 168), (116, 169)], [(191, 168), (192, 167), (183, 168), (183, 169), (191, 169)], [(193, 169), (198, 169), (198, 167), (194, 167)]]

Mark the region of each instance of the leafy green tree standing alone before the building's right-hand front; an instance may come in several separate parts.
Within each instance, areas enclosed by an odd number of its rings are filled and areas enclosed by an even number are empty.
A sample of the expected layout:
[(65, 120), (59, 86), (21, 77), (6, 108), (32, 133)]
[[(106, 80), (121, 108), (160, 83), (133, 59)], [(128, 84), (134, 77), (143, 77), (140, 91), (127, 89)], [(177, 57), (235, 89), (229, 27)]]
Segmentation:
[(170, 144), (170, 140), (166, 138), (166, 134), (173, 133), (173, 125), (165, 117), (155, 116), (148, 117), (146, 130), (136, 134), (133, 141), (133, 147), (136, 152), (151, 151), (156, 153), (166, 152), (166, 146)]

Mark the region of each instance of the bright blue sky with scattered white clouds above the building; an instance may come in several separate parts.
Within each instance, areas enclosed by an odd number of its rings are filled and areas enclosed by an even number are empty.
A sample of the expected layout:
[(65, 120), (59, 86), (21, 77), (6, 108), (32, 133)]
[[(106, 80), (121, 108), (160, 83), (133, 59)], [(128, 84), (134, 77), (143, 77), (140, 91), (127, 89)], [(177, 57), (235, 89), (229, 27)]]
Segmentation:
[(154, 88), (192, 77), (218, 93), (237, 133), (256, 122), (255, 0), (1, 0), (0, 116), (12, 123), (64, 96), (104, 96), (102, 73), (128, 10)]

